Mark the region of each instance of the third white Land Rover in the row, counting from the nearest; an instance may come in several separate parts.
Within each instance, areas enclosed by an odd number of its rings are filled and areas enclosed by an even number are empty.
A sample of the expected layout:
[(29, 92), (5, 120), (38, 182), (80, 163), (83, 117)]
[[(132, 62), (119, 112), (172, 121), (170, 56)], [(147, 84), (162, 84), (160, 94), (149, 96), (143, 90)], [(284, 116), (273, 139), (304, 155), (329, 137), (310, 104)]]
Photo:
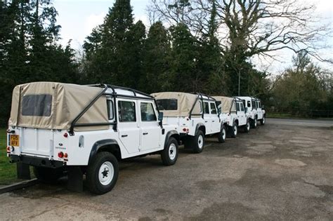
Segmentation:
[(249, 132), (249, 117), (246, 113), (242, 100), (223, 96), (214, 96), (218, 105), (220, 118), (226, 119), (228, 134), (231, 138), (236, 138), (238, 128), (243, 128), (244, 132)]

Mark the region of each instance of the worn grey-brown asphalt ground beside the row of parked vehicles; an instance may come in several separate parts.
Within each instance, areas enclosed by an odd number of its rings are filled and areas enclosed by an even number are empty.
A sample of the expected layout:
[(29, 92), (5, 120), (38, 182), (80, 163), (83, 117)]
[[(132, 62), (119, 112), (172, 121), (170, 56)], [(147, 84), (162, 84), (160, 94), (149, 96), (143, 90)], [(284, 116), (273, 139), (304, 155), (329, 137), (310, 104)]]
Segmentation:
[(267, 122), (202, 154), (181, 148), (174, 166), (124, 161), (101, 196), (64, 181), (1, 194), (0, 220), (333, 220), (333, 130)]

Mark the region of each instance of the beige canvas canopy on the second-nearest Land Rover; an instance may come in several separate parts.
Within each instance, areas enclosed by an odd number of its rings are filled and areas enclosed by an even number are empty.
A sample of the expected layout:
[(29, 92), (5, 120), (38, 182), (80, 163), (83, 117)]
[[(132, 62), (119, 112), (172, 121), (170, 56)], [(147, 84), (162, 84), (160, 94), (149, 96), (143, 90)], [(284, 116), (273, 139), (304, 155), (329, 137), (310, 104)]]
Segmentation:
[(164, 99), (176, 99), (177, 100), (177, 109), (174, 110), (163, 110), (160, 109), (160, 112), (163, 112), (164, 116), (189, 116), (190, 111), (192, 110), (192, 117), (200, 117), (201, 114), (201, 102), (197, 100), (198, 95), (191, 93), (182, 93), (182, 92), (162, 92), (162, 93), (152, 93), (151, 94), (158, 102), (158, 100)]

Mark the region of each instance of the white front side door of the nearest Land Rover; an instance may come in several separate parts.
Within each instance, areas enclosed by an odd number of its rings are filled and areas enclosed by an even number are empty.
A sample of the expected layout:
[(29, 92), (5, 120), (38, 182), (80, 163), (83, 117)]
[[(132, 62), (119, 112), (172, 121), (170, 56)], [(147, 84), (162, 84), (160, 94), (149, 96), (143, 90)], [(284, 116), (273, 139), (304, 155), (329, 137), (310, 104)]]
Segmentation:
[(157, 112), (151, 101), (140, 101), (140, 151), (160, 147), (161, 127), (157, 121)]

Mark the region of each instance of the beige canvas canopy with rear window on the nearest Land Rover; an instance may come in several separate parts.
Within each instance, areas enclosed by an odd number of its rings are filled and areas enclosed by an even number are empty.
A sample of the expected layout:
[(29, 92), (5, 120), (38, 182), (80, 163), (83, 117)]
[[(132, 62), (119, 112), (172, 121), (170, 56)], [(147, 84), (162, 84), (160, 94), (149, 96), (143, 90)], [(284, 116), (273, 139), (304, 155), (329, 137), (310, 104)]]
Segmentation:
[[(15, 86), (10, 126), (68, 130), (75, 117), (103, 90), (70, 83), (34, 82)], [(77, 123), (107, 123), (105, 95)], [(108, 126), (84, 126), (75, 130), (103, 130)]]

